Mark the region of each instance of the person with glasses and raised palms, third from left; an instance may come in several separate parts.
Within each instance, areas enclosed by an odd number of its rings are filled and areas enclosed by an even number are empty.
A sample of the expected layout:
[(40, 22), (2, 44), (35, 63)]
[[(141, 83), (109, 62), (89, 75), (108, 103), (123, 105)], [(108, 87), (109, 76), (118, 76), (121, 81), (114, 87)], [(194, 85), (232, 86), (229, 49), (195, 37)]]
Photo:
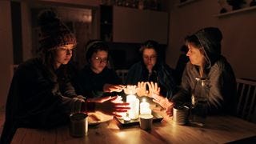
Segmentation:
[[(167, 98), (172, 98), (176, 91), (174, 81), (174, 70), (166, 65), (162, 56), (159, 54), (159, 44), (153, 40), (144, 42), (139, 49), (141, 61), (135, 63), (128, 71), (126, 84), (137, 85), (142, 92), (142, 95), (147, 94), (146, 82), (156, 82), (161, 87), (161, 94)], [(138, 83), (139, 82), (139, 83)], [(141, 94), (138, 94), (141, 95)]]

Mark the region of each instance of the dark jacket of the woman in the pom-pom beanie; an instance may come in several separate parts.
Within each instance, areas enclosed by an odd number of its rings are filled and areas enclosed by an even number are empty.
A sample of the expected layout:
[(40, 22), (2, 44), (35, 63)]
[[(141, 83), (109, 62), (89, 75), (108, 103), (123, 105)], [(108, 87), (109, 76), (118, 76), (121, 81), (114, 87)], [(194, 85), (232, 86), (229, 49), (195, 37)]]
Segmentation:
[(69, 122), (71, 111), (80, 110), (83, 100), (75, 97), (64, 70), (61, 66), (51, 72), (39, 58), (18, 66), (6, 102), (0, 143), (10, 143), (18, 127), (47, 129), (63, 125)]

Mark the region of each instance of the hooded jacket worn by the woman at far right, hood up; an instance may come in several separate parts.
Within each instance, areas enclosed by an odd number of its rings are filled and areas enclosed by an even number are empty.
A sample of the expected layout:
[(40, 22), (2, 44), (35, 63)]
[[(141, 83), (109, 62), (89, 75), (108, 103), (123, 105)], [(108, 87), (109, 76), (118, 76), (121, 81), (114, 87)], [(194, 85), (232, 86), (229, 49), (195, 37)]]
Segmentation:
[[(206, 28), (194, 34), (201, 43), (208, 65), (205, 67), (210, 114), (233, 113), (236, 81), (230, 63), (221, 55), (222, 33), (218, 28)], [(182, 75), (181, 90), (171, 99), (173, 102), (191, 102), (191, 93), (200, 78), (198, 66), (188, 62)]]

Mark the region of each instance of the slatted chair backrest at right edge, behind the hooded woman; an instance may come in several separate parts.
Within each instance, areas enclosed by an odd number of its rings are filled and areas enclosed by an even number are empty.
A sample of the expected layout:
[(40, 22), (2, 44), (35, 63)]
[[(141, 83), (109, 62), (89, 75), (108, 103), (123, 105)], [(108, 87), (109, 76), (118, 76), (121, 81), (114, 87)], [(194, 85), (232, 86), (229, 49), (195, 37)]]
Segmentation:
[(237, 79), (237, 116), (256, 122), (256, 82)]

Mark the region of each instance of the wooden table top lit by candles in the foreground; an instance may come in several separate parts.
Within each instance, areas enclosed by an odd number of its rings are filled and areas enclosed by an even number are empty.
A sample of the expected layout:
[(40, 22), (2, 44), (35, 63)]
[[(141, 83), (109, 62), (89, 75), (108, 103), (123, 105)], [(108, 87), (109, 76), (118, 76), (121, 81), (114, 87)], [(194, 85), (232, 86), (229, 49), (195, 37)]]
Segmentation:
[(256, 136), (256, 124), (232, 116), (210, 116), (201, 127), (175, 125), (171, 118), (164, 116), (150, 131), (139, 126), (119, 128), (113, 119), (89, 127), (84, 138), (71, 137), (68, 126), (54, 130), (19, 128), (12, 143), (225, 143), (253, 136)]

